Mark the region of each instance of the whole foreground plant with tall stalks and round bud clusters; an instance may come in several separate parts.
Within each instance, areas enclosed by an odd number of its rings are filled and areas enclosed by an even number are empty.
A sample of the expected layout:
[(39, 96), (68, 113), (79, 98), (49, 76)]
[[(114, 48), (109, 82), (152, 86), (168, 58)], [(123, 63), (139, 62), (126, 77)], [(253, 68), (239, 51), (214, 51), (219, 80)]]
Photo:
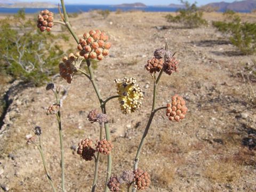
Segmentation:
[[(146, 70), (153, 77), (152, 81), (154, 82), (154, 91), (153, 91), (153, 103), (152, 108), (150, 110), (150, 116), (148, 119), (148, 123), (145, 127), (145, 131), (142, 135), (139, 147), (137, 149), (137, 154), (134, 158), (134, 166), (131, 170), (124, 170), (120, 177), (117, 175), (111, 175), (111, 150), (113, 149), (113, 143), (111, 143), (110, 138), (110, 130), (108, 124), (108, 115), (106, 111), (107, 102), (111, 99), (118, 99), (119, 107), (121, 111), (125, 115), (129, 115), (131, 113), (135, 113), (142, 106), (141, 100), (144, 95), (141, 90), (141, 87), (137, 84), (135, 78), (123, 78), (123, 79), (115, 79), (116, 84), (116, 95), (110, 96), (107, 99), (103, 99), (100, 90), (98, 89), (98, 85), (94, 80), (94, 73), (92, 69), (91, 61), (99, 60), (99, 62), (109, 54), (109, 49), (111, 47), (111, 43), (109, 42), (109, 37), (105, 33), (105, 31), (101, 30), (90, 30), (83, 34), (82, 38), (78, 38), (75, 34), (73, 28), (70, 26), (68, 21), (68, 15), (66, 12), (64, 1), (61, 0), (63, 16), (61, 14), (62, 21), (53, 21), (54, 23), (59, 23), (66, 26), (70, 34), (74, 37), (77, 43), (78, 52), (73, 54), (70, 53), (68, 57), (63, 57), (62, 62), (59, 64), (60, 76), (67, 81), (67, 83), (71, 84), (74, 81), (73, 76), (77, 73), (83, 74), (89, 81), (92, 83), (93, 89), (97, 98), (99, 100), (99, 106), (97, 109), (92, 109), (88, 114), (87, 118), (90, 123), (98, 123), (100, 126), (99, 131), (99, 140), (95, 142), (95, 146), (93, 145), (93, 140), (89, 138), (84, 138), (81, 142), (78, 143), (77, 154), (81, 156), (84, 161), (92, 161), (95, 162), (94, 169), (94, 178), (92, 184), (92, 190), (95, 191), (97, 188), (98, 182), (98, 167), (100, 163), (100, 158), (103, 156), (107, 156), (108, 165), (107, 165), (107, 173), (106, 173), (106, 182), (105, 182), (105, 191), (120, 191), (121, 186), (125, 186), (129, 191), (132, 188), (132, 191), (144, 190), (147, 189), (150, 185), (150, 175), (147, 171), (143, 171), (139, 167), (140, 154), (143, 148), (144, 143), (146, 142), (146, 137), (148, 131), (150, 129), (151, 122), (154, 118), (154, 115), (159, 110), (166, 111), (166, 118), (171, 122), (180, 122), (185, 118), (187, 113), (187, 107), (185, 100), (178, 94), (175, 94), (171, 97), (171, 102), (166, 103), (165, 106), (157, 107), (157, 86), (160, 83), (161, 77), (163, 74), (172, 75), (178, 70), (179, 61), (175, 59), (174, 54), (172, 54), (168, 50), (168, 46), (165, 46), (165, 49), (156, 49), (154, 52), (153, 58), (148, 60), (145, 65)], [(49, 11), (44, 10), (41, 12), (42, 14), (48, 14)], [(41, 18), (41, 17), (38, 17)], [(39, 20), (38, 20), (39, 22)], [(44, 26), (38, 25), (38, 28), (45, 27), (48, 23), (44, 23)], [(45, 29), (45, 28), (43, 28)], [(46, 30), (46, 29), (45, 29)], [(42, 31), (45, 31), (42, 30)], [(48, 31), (48, 30), (46, 30)], [(86, 66), (88, 72), (86, 72), (83, 68), (81, 68), (82, 61), (86, 61)], [(62, 87), (55, 86), (53, 83), (49, 83), (46, 86), (46, 90), (51, 90), (56, 98), (55, 103), (50, 106), (47, 110), (47, 115), (55, 115), (57, 117), (58, 127), (59, 127), (59, 136), (60, 136), (60, 146), (61, 146), (61, 183), (62, 183), (62, 191), (65, 191), (65, 166), (64, 166), (64, 156), (63, 156), (63, 136), (62, 136), (62, 122), (61, 122), (61, 90)], [(103, 134), (103, 128), (105, 129), (105, 138)], [(36, 132), (35, 132), (36, 134)], [(31, 142), (33, 141), (33, 142)], [(34, 137), (28, 139), (29, 143), (35, 143)], [(38, 148), (39, 151), (42, 148)], [(40, 153), (42, 150), (40, 151)], [(41, 153), (41, 157), (42, 153)], [(44, 161), (43, 161), (44, 162)], [(44, 163), (44, 167), (46, 167)], [(49, 175), (49, 172), (45, 171), (46, 175)], [(48, 177), (49, 178), (49, 177)], [(51, 184), (52, 179), (49, 180)], [(53, 186), (53, 185), (52, 185)], [(54, 187), (53, 191), (54, 191)]]

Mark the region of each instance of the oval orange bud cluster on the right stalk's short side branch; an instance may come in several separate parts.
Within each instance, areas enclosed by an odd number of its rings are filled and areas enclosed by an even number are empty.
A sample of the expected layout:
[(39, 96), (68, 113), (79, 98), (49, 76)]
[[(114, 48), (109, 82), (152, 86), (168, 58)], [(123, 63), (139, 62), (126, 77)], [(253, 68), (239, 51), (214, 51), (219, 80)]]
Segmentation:
[(178, 94), (175, 94), (172, 97), (172, 102), (167, 103), (166, 116), (169, 117), (170, 121), (179, 122), (185, 118), (187, 111), (186, 101)]

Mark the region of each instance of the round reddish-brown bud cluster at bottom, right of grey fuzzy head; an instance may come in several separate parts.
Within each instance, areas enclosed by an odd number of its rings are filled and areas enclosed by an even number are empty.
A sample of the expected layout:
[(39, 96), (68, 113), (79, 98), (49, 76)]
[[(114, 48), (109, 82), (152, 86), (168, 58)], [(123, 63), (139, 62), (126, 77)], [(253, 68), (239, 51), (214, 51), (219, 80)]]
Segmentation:
[(134, 187), (138, 190), (147, 189), (150, 185), (150, 175), (147, 171), (142, 171), (141, 169), (137, 169), (133, 171), (134, 173)]

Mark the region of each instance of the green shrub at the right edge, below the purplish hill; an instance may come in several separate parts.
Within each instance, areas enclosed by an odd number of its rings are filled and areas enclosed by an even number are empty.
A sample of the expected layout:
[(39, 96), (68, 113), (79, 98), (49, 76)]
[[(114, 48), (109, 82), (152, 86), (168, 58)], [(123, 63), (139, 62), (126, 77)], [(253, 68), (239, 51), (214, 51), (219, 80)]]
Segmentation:
[(256, 23), (242, 22), (233, 11), (223, 13), (224, 21), (213, 21), (212, 25), (243, 54), (256, 52)]

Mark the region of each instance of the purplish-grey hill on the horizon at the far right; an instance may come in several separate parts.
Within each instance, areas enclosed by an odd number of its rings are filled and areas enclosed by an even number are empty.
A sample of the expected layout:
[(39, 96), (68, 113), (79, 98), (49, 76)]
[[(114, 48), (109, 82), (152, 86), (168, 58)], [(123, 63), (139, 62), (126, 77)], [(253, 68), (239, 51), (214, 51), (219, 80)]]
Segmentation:
[(209, 3), (205, 6), (218, 7), (218, 11), (233, 10), (237, 12), (250, 12), (256, 9), (256, 0), (235, 1), (233, 3)]

